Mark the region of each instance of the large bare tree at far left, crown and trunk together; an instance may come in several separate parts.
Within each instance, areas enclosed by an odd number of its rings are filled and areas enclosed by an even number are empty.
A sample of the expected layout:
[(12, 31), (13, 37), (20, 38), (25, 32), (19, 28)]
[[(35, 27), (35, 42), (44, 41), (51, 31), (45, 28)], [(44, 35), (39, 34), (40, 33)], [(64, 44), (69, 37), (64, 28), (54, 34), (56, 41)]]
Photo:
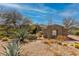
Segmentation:
[[(6, 10), (6, 9), (5, 9)], [(15, 9), (10, 9), (10, 10), (3, 10), (0, 13), (0, 17), (5, 20), (4, 21), (4, 25), (5, 27), (5, 31), (6, 31), (6, 35), (9, 36), (8, 34), (10, 33), (10, 29), (11, 28), (16, 28), (17, 25), (17, 20), (21, 20), (22, 15)]]

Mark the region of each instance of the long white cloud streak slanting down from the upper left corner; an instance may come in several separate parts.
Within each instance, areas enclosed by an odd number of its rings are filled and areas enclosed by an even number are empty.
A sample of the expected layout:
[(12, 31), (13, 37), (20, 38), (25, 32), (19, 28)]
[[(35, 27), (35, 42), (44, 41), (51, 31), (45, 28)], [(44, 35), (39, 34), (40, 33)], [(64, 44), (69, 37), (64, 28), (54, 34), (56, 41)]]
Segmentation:
[(11, 3), (1, 3), (1, 6), (5, 6), (5, 7), (12, 7), (12, 8), (18, 8), (18, 9), (24, 9), (24, 10), (31, 10), (31, 11), (37, 11), (37, 12), (41, 12), (41, 13), (45, 13), (45, 10), (41, 10), (38, 8), (33, 8), (31, 6), (21, 6), (19, 4), (11, 4)]

